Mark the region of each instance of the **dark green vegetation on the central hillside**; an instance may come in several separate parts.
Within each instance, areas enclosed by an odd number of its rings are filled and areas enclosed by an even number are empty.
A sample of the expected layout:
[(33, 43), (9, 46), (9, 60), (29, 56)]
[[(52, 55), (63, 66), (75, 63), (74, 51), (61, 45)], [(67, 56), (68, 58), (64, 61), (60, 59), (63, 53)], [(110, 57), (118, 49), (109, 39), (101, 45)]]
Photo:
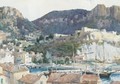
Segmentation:
[[(51, 35), (49, 35), (50, 37)], [(52, 37), (52, 36), (51, 36)], [(44, 38), (43, 36), (40, 36), (40, 38)], [(53, 37), (52, 37), (53, 38)], [(62, 37), (60, 37), (62, 38)], [(69, 38), (69, 37), (67, 37)], [(51, 39), (46, 40), (44, 39), (43, 43), (39, 43), (37, 38), (37, 43), (34, 45), (29, 45), (28, 47), (25, 47), (24, 49), (28, 52), (34, 51), (35, 53), (43, 53), (43, 62), (48, 62), (49, 59), (46, 58), (46, 53), (49, 51), (52, 56), (59, 56), (59, 57), (69, 57), (72, 58), (73, 53), (76, 53), (76, 50), (80, 46), (80, 43), (77, 41), (74, 41), (74, 39), (65, 40), (65, 41), (59, 41), (57, 39)], [(41, 61), (40, 61), (41, 62)], [(63, 63), (63, 60), (58, 61), (59, 63)]]

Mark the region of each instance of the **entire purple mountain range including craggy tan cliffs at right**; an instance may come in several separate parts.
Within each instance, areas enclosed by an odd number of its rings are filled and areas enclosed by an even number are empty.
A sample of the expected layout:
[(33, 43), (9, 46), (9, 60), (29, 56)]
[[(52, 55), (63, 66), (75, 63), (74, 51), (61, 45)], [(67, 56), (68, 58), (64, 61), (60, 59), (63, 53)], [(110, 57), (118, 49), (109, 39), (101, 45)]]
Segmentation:
[(91, 11), (83, 9), (52, 11), (33, 21), (44, 34), (72, 34), (84, 26), (120, 33), (120, 7), (98, 4)]

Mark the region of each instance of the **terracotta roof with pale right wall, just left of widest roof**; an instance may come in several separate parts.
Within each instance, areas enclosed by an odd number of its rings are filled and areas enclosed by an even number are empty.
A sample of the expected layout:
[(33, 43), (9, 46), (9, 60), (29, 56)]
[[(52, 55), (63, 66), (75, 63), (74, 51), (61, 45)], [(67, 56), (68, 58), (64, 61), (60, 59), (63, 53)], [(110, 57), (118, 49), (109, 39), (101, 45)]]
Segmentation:
[(18, 80), (18, 84), (46, 84), (46, 81), (45, 75), (27, 74)]

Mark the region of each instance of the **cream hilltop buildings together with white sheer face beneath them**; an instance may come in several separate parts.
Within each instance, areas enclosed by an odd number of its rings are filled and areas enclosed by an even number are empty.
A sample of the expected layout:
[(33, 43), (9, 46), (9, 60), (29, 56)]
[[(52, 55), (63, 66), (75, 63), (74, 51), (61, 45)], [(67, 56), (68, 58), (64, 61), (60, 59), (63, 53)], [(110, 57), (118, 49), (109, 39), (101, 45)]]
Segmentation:
[(76, 31), (75, 34), (81, 38), (83, 37), (85, 42), (91, 42), (81, 46), (81, 52), (84, 56), (81, 56), (82, 58), (78, 56), (79, 59), (106, 62), (114, 62), (116, 58), (119, 59), (120, 48), (115, 45), (120, 42), (120, 35), (117, 35), (116, 32), (83, 27), (81, 30)]

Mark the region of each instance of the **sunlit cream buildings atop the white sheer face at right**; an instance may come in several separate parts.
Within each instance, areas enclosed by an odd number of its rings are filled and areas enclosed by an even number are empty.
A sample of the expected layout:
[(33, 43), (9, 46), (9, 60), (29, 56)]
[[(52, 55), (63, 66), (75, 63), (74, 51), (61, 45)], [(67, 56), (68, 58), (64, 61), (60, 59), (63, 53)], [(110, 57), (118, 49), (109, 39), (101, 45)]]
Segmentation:
[(84, 40), (98, 40), (98, 41), (107, 41), (107, 42), (119, 42), (120, 36), (117, 35), (117, 32), (111, 31), (107, 32), (105, 29), (93, 29), (88, 27), (83, 27), (81, 30), (77, 30), (75, 34), (82, 35), (86, 33)]

